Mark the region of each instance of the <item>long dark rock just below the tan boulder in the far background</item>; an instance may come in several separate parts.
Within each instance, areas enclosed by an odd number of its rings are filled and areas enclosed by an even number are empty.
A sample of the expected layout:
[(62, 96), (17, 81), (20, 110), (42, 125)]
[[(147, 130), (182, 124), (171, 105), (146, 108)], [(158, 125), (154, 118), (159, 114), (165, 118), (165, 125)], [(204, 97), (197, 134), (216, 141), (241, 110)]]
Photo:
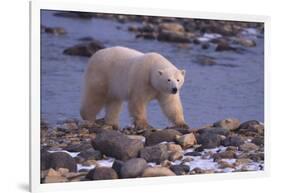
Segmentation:
[(159, 32), (157, 39), (159, 41), (176, 42), (176, 43), (191, 42), (190, 37), (188, 37), (184, 32), (161, 31)]

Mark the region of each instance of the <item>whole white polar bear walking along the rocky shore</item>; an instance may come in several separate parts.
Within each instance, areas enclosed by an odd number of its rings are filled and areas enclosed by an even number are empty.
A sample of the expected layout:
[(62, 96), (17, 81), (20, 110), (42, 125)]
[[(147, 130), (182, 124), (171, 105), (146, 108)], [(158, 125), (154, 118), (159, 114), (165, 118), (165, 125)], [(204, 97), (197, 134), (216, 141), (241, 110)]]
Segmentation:
[(146, 106), (156, 99), (175, 126), (187, 127), (179, 95), (184, 77), (185, 70), (158, 53), (125, 47), (99, 50), (85, 72), (81, 117), (95, 121), (105, 107), (105, 124), (118, 128), (122, 103), (127, 101), (135, 127), (149, 128)]

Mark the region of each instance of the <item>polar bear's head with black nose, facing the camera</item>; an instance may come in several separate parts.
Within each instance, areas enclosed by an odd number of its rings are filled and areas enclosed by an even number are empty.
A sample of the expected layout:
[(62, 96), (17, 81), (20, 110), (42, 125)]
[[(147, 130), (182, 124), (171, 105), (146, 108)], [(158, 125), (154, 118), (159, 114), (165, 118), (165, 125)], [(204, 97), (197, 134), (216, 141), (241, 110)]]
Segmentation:
[(159, 69), (152, 75), (152, 86), (159, 92), (177, 94), (184, 83), (185, 70)]

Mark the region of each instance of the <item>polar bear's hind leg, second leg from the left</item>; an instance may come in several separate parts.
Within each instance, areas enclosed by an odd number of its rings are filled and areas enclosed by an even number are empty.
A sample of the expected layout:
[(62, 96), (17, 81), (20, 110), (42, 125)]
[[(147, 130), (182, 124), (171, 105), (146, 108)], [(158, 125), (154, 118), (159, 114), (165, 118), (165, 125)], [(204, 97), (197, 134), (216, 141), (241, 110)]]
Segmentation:
[(105, 106), (105, 124), (112, 125), (113, 129), (119, 128), (119, 114), (122, 101), (108, 101)]

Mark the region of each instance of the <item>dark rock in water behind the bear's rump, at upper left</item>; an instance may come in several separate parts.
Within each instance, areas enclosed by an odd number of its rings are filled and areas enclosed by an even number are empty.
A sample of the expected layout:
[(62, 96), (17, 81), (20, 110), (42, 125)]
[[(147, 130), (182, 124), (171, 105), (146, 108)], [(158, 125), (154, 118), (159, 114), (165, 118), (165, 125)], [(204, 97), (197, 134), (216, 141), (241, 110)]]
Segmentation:
[(97, 52), (100, 49), (105, 48), (104, 45), (102, 45), (98, 41), (91, 41), (87, 43), (80, 43), (77, 45), (74, 45), (70, 48), (66, 48), (63, 51), (63, 54), (66, 55), (71, 55), (71, 56), (86, 56), (90, 57), (92, 56), (95, 52)]

